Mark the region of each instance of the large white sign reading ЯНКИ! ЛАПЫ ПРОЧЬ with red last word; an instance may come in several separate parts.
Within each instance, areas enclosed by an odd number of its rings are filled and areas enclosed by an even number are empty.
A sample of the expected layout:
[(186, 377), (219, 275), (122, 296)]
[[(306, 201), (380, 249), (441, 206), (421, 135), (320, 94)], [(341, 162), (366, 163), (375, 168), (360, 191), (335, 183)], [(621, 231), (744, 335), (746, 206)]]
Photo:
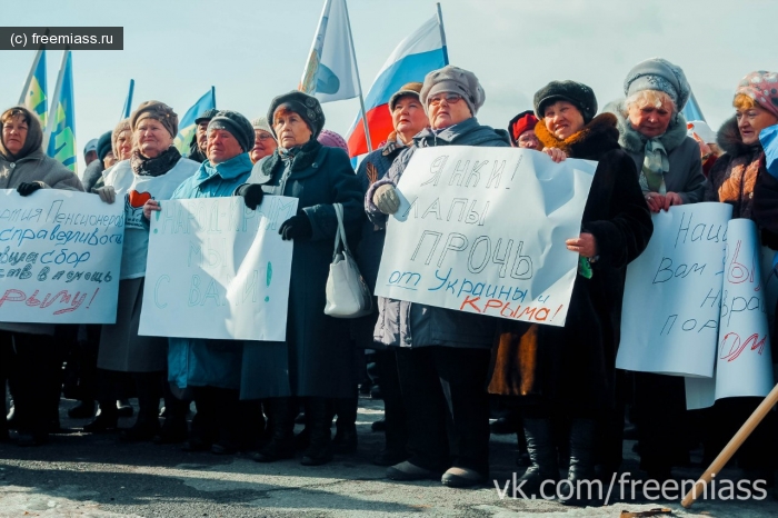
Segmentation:
[(538, 151), (419, 149), (387, 226), (376, 295), (563, 326), (596, 162)]

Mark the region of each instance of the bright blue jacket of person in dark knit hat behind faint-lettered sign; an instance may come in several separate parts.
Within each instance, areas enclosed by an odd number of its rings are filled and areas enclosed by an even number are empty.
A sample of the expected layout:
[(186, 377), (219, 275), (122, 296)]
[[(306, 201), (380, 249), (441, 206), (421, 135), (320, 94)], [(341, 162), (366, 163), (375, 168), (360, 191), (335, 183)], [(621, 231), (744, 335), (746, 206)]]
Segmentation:
[[(170, 199), (232, 196), (235, 189), (251, 175), (251, 167), (248, 153), (238, 155), (216, 166), (206, 160), (197, 173), (176, 189)], [(168, 338), (168, 380), (179, 388), (240, 388), (242, 341), (171, 337)]]

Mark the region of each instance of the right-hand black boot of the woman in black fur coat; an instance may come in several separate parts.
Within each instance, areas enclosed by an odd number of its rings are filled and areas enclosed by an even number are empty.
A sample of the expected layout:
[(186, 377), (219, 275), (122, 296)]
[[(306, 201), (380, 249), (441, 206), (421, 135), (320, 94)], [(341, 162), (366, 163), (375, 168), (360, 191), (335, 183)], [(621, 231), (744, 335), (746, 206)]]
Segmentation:
[[(586, 507), (599, 498), (596, 488), (589, 484), (595, 480), (595, 420), (573, 419), (570, 428), (570, 467), (568, 480), (573, 489), (571, 498), (562, 500), (568, 506)], [(591, 492), (591, 494), (590, 494)]]

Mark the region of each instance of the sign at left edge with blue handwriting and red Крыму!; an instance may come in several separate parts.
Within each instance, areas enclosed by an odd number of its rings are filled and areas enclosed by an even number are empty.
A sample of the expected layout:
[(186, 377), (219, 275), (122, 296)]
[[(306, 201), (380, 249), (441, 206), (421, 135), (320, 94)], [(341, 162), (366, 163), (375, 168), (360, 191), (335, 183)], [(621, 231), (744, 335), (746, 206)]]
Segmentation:
[(0, 321), (116, 322), (122, 206), (59, 189), (0, 197)]

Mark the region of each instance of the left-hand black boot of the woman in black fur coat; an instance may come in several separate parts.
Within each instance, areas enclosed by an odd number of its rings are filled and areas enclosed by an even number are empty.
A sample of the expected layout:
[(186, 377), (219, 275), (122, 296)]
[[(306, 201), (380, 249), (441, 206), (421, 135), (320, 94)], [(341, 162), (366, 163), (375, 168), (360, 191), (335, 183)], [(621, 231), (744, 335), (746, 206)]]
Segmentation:
[[(519, 478), (518, 482), (522, 481), (522, 490), (528, 498), (535, 496), (542, 498), (540, 495), (540, 486), (545, 480), (553, 480), (555, 484), (559, 480), (559, 466), (557, 464), (557, 448), (553, 446), (553, 434), (551, 431), (550, 419), (525, 419), (525, 437), (527, 438), (527, 452), (531, 465), (527, 471)], [(546, 494), (551, 494), (556, 490), (556, 486), (546, 485), (543, 488)]]

